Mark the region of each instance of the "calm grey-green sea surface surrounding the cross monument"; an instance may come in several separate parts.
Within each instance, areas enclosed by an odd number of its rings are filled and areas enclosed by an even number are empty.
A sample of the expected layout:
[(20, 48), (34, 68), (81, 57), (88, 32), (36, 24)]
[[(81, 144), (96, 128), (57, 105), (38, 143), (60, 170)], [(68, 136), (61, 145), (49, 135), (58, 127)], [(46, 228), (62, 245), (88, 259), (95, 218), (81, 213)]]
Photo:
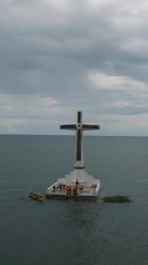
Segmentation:
[(74, 145), (73, 136), (0, 135), (1, 265), (148, 264), (148, 137), (84, 137), (97, 201), (28, 199), (73, 169)]

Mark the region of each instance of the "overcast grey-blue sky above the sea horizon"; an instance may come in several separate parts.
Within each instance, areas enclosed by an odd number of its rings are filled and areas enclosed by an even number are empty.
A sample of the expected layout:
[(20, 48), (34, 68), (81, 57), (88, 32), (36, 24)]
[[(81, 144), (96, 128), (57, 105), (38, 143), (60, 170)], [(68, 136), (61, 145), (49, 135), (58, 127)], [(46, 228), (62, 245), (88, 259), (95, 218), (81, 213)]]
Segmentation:
[[(148, 135), (148, 1), (1, 0), (0, 133)], [(85, 132), (89, 134), (90, 132)]]

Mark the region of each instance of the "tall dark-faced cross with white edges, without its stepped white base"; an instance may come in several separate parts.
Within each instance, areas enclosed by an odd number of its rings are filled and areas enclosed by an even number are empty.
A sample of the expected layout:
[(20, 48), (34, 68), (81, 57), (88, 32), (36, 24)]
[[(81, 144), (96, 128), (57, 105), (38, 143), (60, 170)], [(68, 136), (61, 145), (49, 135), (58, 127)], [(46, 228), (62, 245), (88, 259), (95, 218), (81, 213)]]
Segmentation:
[(99, 130), (98, 124), (84, 124), (82, 121), (82, 112), (77, 114), (77, 122), (71, 124), (62, 124), (60, 129), (76, 130), (76, 158), (74, 163), (75, 169), (83, 169), (83, 130)]

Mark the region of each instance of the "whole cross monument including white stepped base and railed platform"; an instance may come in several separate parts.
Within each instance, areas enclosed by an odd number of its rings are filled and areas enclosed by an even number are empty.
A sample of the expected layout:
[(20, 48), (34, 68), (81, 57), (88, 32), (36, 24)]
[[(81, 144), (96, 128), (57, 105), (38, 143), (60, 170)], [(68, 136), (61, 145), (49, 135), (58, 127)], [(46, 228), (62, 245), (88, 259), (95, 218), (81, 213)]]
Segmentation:
[[(99, 179), (84, 170), (83, 162), (83, 130), (99, 130), (98, 124), (86, 124), (82, 121), (82, 112), (77, 113), (76, 123), (62, 124), (60, 129), (76, 131), (76, 155), (74, 169), (65, 174), (65, 178), (58, 179), (56, 183), (47, 189), (47, 195), (54, 196), (76, 196), (76, 197), (97, 197), (101, 184)], [(71, 187), (70, 192), (69, 187)], [(66, 190), (66, 191), (65, 191)], [(75, 192), (74, 192), (75, 190)], [(72, 191), (72, 193), (71, 193)]]

